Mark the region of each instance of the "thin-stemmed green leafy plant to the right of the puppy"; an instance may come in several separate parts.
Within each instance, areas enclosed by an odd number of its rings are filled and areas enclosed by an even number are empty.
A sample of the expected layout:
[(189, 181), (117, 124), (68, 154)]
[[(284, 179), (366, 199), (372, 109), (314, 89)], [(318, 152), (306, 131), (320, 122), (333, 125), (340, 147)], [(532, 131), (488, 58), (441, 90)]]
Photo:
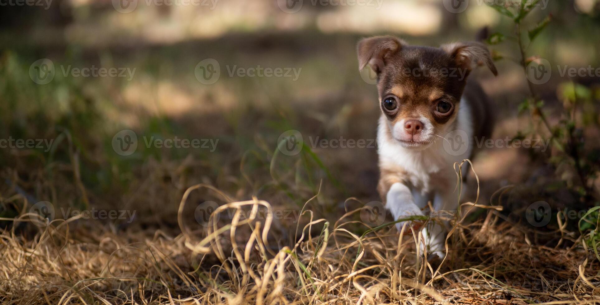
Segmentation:
[[(539, 0), (521, 1), (513, 5), (491, 5), (494, 10), (503, 16), (509, 17), (514, 23), (514, 41), (516, 41), (519, 58), (517, 63), (527, 75), (527, 68), (541, 59), (538, 55), (529, 56), (527, 50), (529, 46), (538, 38), (539, 34), (551, 23), (552, 15), (545, 16), (533, 28), (524, 29), (523, 22), (531, 11), (536, 7)], [(502, 33), (495, 33), (488, 38), (488, 44), (499, 44), (506, 40)], [(496, 52), (492, 52), (493, 54)], [(494, 56), (501, 58), (502, 56)], [(527, 81), (529, 89), (528, 96), (519, 105), (519, 113), (529, 112), (532, 122), (532, 128), (528, 131), (519, 131), (515, 138), (527, 138), (533, 135), (547, 135), (548, 140), (553, 144), (553, 150), (544, 152), (547, 161), (554, 165), (557, 174), (561, 172), (574, 173), (573, 178), (568, 184), (575, 192), (586, 202), (593, 202), (593, 198), (598, 199), (590, 186), (598, 172), (598, 162), (593, 162), (593, 156), (585, 155), (583, 137), (583, 127), (589, 124), (595, 118), (584, 119), (584, 122), (577, 122), (576, 113), (578, 107), (584, 107), (592, 101), (590, 90), (580, 84), (572, 82), (563, 83), (559, 86), (559, 99), (563, 100), (560, 120), (552, 123), (544, 111), (545, 102), (541, 99), (534, 88), (532, 81)], [(561, 96), (562, 95), (562, 96)], [(590, 159), (592, 158), (592, 159)]]

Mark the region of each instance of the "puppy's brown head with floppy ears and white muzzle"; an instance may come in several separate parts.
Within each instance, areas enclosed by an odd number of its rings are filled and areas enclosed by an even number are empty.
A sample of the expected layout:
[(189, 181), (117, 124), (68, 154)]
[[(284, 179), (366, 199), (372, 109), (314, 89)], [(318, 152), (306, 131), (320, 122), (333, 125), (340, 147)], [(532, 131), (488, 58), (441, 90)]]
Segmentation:
[(370, 64), (377, 73), (380, 108), (405, 147), (423, 149), (448, 131), (473, 68), (485, 64), (497, 74), (487, 47), (476, 42), (434, 48), (379, 36), (359, 41), (357, 49), (359, 69)]

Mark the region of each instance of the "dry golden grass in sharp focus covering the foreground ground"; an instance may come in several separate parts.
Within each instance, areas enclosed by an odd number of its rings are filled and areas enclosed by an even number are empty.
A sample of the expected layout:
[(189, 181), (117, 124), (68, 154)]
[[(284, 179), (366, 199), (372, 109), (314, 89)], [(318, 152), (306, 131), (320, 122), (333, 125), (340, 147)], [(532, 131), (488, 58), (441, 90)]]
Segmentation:
[[(277, 247), (274, 209), (253, 198), (220, 206), (226, 221), (181, 234), (119, 231), (89, 221), (55, 220), (37, 233), (22, 213), (2, 231), (0, 291), (5, 304), (421, 304), (598, 303), (600, 264), (578, 233), (538, 232), (488, 207), (474, 223), (454, 221), (443, 261), (418, 253), (418, 232), (394, 225), (357, 235), (361, 209), (335, 223), (314, 219), (309, 200), (296, 244)], [(7, 201), (25, 202), (19, 195)], [(478, 205), (479, 207), (483, 207)], [(471, 209), (473, 204), (464, 204)], [(25, 209), (24, 209), (25, 211)], [(430, 220), (433, 221), (433, 220)], [(22, 223), (23, 224), (23, 223)], [(71, 228), (70, 228), (71, 227)], [(73, 228), (74, 227), (74, 228)], [(21, 228), (21, 229), (16, 229)], [(406, 227), (404, 228), (406, 229)], [(275, 236), (274, 236), (275, 234)], [(568, 245), (568, 246), (567, 246)]]

